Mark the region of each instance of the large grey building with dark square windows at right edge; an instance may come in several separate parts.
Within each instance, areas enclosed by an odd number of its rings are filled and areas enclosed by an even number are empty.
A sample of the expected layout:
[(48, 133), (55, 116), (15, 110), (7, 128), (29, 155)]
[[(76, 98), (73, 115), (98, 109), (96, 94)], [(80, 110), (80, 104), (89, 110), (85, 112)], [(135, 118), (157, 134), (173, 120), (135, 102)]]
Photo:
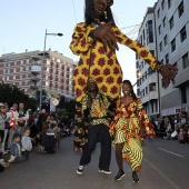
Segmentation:
[(189, 1), (159, 0), (155, 8), (158, 59), (177, 67), (176, 84), (160, 77), (161, 116), (189, 110)]

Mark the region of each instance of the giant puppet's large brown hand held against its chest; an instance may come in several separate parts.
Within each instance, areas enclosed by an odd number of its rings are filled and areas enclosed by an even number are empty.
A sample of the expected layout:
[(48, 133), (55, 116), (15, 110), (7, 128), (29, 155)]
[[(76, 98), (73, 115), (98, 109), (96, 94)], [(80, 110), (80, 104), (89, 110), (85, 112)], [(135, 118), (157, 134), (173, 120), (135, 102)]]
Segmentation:
[(112, 24), (112, 21), (100, 24), (98, 28), (93, 30), (93, 37), (94, 39), (98, 39), (103, 43), (103, 47), (106, 50), (107, 50), (107, 46), (111, 50), (115, 50), (115, 49), (119, 50), (117, 41), (116, 41), (115, 32), (111, 29), (111, 24)]

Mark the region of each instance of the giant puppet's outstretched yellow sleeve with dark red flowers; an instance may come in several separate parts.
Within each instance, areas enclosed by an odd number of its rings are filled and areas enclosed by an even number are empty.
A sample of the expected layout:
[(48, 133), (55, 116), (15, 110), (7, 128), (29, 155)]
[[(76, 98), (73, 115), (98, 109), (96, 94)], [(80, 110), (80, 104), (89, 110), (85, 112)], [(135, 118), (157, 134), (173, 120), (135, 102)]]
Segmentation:
[(112, 28), (116, 34), (117, 42), (125, 44), (132, 49), (141, 59), (143, 59), (152, 70), (156, 69), (158, 60), (152, 56), (152, 53), (141, 43), (136, 40), (128, 38), (123, 34), (117, 27)]

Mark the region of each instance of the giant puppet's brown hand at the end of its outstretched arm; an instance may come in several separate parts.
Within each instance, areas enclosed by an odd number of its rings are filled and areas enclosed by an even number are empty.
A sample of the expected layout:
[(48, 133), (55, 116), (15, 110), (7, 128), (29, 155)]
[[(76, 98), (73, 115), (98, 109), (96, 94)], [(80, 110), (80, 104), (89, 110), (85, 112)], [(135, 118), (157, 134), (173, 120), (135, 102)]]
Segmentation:
[(171, 64), (163, 64), (160, 69), (160, 73), (165, 79), (165, 89), (169, 86), (170, 81), (175, 83), (175, 78), (177, 74), (178, 69)]

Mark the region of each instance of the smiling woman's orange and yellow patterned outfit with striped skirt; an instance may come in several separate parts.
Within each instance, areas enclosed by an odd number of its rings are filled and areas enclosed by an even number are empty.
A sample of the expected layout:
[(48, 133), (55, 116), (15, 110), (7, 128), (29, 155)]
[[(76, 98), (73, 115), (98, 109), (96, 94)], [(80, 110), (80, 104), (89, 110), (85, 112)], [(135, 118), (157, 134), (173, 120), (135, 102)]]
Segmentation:
[(146, 135), (153, 138), (153, 126), (149, 121), (140, 99), (128, 105), (118, 100), (116, 117), (110, 125), (110, 136), (115, 138), (113, 145), (125, 143), (122, 157), (131, 163), (132, 171), (141, 169), (142, 148), (139, 135), (141, 128), (146, 130)]

